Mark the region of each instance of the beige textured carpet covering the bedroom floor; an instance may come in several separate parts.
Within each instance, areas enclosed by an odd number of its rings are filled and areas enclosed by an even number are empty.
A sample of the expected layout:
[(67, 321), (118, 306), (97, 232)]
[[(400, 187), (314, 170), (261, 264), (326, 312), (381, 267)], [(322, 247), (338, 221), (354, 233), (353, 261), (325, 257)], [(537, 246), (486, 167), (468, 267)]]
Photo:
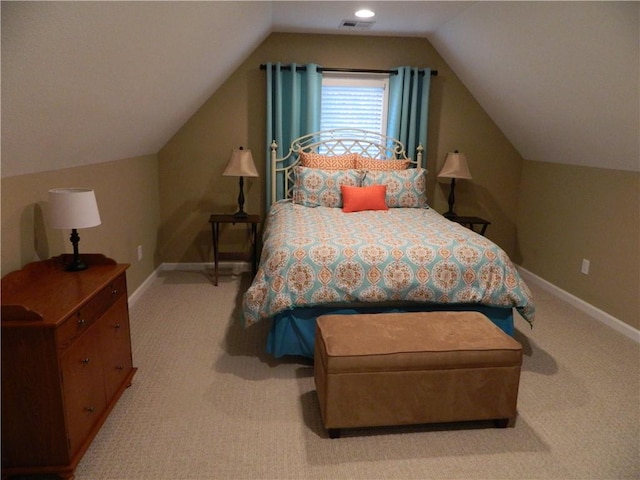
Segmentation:
[(515, 428), (322, 428), (313, 369), (240, 326), (248, 275), (164, 272), (131, 309), (134, 383), (76, 471), (99, 479), (638, 479), (640, 347), (532, 285)]

